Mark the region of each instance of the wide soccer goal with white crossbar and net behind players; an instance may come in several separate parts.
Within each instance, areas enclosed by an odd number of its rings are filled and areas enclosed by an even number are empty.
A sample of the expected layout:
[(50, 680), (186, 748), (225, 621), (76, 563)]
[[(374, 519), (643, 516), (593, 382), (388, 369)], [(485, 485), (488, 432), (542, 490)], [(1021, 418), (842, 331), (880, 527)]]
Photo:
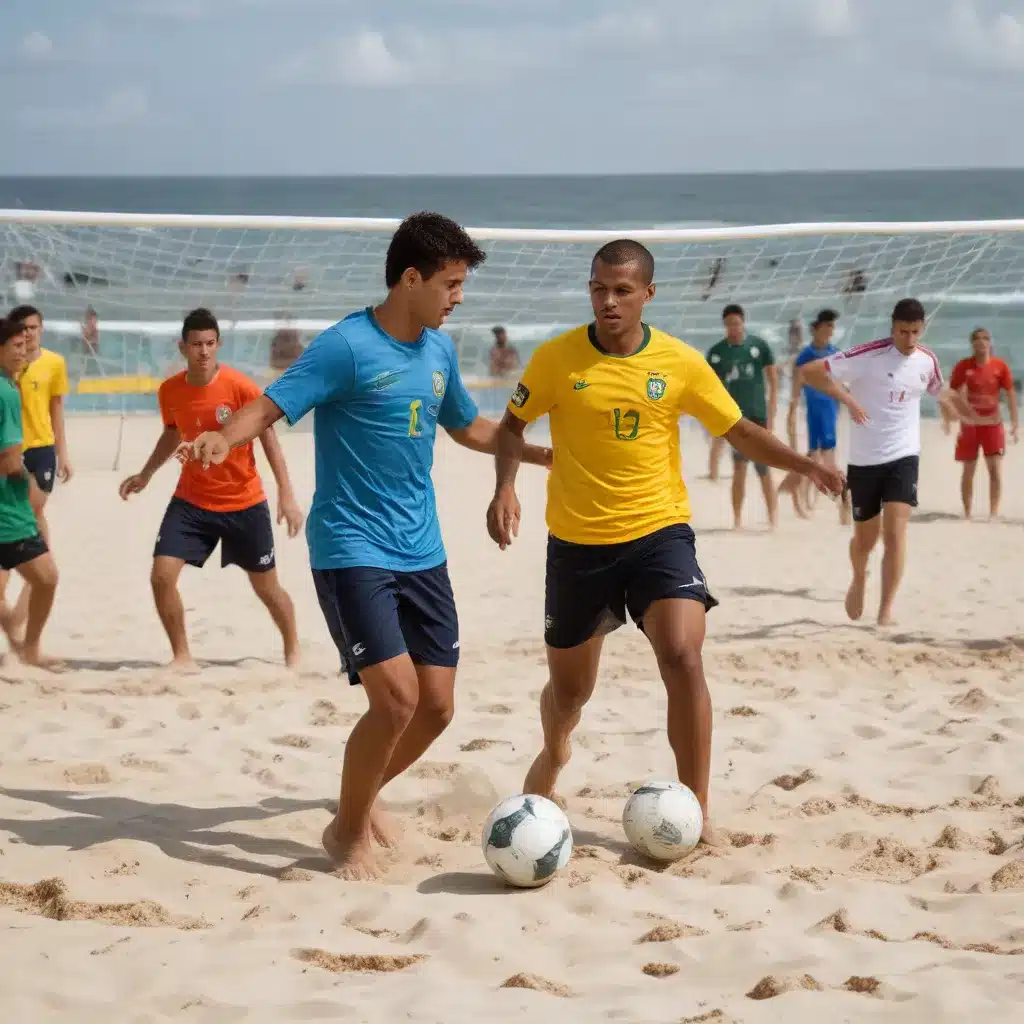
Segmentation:
[[(44, 313), (45, 344), (68, 358), (69, 410), (126, 419), (156, 410), (160, 380), (181, 367), (181, 317), (210, 307), (224, 359), (273, 375), (282, 332), (302, 342), (384, 292), (384, 254), (398, 221), (337, 217), (0, 211), (0, 290), (8, 307)], [(1024, 220), (814, 223), (700, 229), (472, 227), (487, 252), (447, 330), (481, 409), (497, 413), (512, 379), (490, 378), (492, 329), (521, 360), (590, 315), (587, 278), (613, 238), (647, 245), (657, 294), (648, 318), (701, 350), (739, 303), (748, 330), (785, 362), (820, 308), (840, 314), (841, 347), (878, 337), (904, 296), (925, 303), (928, 343), (943, 367), (970, 330), (998, 346), (1024, 328)], [(94, 329), (94, 330), (93, 330)], [(1014, 339), (1016, 341), (1016, 338)], [(117, 450), (110, 453), (117, 468)]]

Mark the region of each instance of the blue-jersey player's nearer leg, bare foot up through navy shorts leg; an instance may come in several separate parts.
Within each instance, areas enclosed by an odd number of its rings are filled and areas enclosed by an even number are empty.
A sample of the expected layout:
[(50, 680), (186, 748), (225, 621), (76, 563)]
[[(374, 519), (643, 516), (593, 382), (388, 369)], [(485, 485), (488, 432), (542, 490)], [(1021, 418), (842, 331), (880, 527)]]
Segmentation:
[(381, 863), (371, 846), (373, 806), (402, 734), (416, 714), (419, 679), (398, 621), (398, 586), (385, 569), (314, 569), (328, 629), (369, 707), (352, 727), (341, 769), (338, 813), (324, 849), (348, 879), (372, 879)]

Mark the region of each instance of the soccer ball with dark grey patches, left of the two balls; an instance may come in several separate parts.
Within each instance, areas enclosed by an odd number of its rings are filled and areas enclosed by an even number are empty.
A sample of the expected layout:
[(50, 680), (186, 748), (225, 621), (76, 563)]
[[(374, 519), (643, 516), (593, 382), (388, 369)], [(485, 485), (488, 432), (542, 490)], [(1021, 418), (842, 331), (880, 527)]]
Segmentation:
[(520, 795), (503, 800), (487, 816), (482, 846), (483, 859), (502, 881), (536, 889), (569, 862), (572, 829), (556, 803)]

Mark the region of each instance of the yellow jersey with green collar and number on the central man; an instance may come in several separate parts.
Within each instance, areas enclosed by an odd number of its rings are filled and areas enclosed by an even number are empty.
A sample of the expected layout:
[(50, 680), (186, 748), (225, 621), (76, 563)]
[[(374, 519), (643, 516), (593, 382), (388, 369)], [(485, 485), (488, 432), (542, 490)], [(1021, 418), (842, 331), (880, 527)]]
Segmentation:
[(545, 342), (509, 412), (526, 423), (550, 418), (548, 529), (572, 544), (618, 544), (688, 522), (679, 418), (695, 417), (716, 437), (740, 419), (705, 357), (646, 325), (632, 355), (604, 351), (593, 325)]

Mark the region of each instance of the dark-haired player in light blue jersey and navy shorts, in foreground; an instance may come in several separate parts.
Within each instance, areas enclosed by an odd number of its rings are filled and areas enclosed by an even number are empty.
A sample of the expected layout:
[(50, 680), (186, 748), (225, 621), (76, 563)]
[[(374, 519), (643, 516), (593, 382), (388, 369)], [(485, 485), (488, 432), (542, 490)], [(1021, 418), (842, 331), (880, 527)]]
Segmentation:
[[(266, 391), (191, 455), (206, 465), (285, 417), (313, 411), (316, 489), (306, 520), (309, 564), (328, 628), (370, 707), (345, 746), (338, 814), (324, 847), (350, 879), (374, 878), (371, 838), (392, 845), (374, 807), (387, 782), (452, 719), (459, 620), (430, 469), (437, 427), (494, 455), (498, 424), (482, 419), (439, 329), (484, 259), (436, 213), (414, 214), (387, 252), (387, 298), (315, 338)], [(527, 461), (550, 464), (530, 445)]]

